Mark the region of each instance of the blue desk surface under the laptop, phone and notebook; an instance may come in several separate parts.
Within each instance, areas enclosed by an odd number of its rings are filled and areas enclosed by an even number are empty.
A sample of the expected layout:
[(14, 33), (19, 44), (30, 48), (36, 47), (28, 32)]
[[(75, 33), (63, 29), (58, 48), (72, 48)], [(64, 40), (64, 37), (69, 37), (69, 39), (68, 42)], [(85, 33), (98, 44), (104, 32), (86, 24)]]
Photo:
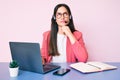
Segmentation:
[(116, 70), (103, 71), (98, 73), (83, 74), (71, 69), (69, 63), (61, 63), (62, 67), (70, 68), (71, 71), (64, 76), (55, 76), (52, 72), (38, 74), (29, 71), (19, 71), (19, 76), (11, 78), (9, 76), (8, 63), (0, 63), (0, 80), (120, 80), (120, 62), (109, 63), (117, 66)]

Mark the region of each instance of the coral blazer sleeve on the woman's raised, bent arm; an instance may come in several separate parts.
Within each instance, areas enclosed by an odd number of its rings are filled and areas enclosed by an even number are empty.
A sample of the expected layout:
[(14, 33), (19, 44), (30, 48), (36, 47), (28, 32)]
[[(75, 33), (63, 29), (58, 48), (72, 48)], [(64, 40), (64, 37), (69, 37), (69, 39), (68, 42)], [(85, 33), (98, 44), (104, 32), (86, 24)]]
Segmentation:
[(82, 38), (82, 33), (77, 32), (74, 35), (77, 38), (77, 41), (74, 44), (72, 44), (74, 55), (79, 62), (86, 62), (88, 59), (88, 53), (85, 48), (85, 44)]

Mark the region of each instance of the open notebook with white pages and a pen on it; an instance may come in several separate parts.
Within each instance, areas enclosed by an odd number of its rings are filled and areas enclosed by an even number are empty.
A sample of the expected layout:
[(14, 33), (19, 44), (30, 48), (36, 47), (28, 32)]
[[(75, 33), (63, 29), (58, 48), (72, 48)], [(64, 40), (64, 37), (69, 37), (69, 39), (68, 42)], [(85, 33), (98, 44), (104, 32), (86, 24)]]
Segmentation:
[(91, 61), (87, 63), (83, 63), (83, 62), (73, 63), (70, 65), (70, 67), (82, 73), (100, 72), (105, 70), (117, 69), (116, 66), (104, 62), (97, 62), (97, 61)]

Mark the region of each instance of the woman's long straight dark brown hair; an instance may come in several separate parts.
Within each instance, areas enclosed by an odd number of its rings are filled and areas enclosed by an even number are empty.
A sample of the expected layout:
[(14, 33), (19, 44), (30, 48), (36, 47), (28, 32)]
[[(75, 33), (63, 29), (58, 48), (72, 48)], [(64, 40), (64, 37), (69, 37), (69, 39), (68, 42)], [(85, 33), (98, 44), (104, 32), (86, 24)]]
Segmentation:
[(73, 23), (73, 17), (70, 11), (70, 8), (66, 5), (66, 4), (58, 4), (55, 8), (54, 8), (54, 13), (51, 19), (51, 31), (50, 31), (50, 41), (49, 41), (49, 55), (51, 56), (57, 56), (60, 55), (58, 52), (58, 48), (57, 48), (57, 32), (58, 32), (58, 24), (56, 23), (56, 19), (55, 19), (55, 15), (56, 12), (58, 10), (58, 8), (60, 7), (65, 7), (69, 13), (69, 16), (71, 16), (70, 18), (70, 22), (68, 24), (71, 32), (73, 33), (75, 31), (75, 27), (74, 27), (74, 23)]

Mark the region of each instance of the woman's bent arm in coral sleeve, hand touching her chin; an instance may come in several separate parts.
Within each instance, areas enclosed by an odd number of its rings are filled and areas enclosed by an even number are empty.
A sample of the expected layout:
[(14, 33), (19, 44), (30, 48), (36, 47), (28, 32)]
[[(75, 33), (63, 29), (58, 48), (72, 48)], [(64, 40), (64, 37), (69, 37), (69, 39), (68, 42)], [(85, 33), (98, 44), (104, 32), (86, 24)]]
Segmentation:
[(82, 33), (79, 31), (75, 31), (74, 33), (72, 33), (68, 26), (62, 26), (62, 30), (70, 39), (77, 60), (80, 62), (86, 62), (88, 59), (88, 53), (84, 45)]

